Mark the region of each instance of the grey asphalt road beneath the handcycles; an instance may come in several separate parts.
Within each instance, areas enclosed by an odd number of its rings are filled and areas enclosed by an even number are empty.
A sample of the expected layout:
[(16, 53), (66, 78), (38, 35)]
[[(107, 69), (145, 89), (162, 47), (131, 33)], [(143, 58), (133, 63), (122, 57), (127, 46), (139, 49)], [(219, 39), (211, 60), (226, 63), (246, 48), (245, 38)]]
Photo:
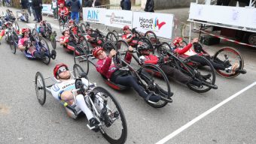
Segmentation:
[[(5, 7), (2, 10), (5, 10)], [(187, 11), (187, 8), (165, 10), (166, 13), (174, 13), (183, 21), (187, 19)], [(52, 24), (59, 36), (59, 30), (56, 29), (58, 23), (49, 17), (44, 19)], [(32, 23), (32, 20), (30, 22)], [(34, 26), (18, 23), (21, 28)], [(256, 49), (224, 41), (207, 49), (213, 53), (221, 46), (233, 46), (238, 49), (244, 58), (248, 73), (233, 79), (217, 76), (218, 90), (203, 94), (170, 81), (172, 92), (175, 94), (172, 97), (173, 103), (162, 109), (150, 107), (133, 90), (117, 92), (105, 86), (92, 65), (89, 78), (98, 86), (108, 89), (123, 108), (128, 124), (126, 143), (156, 143), (256, 81)], [(23, 52), (17, 51), (14, 55), (4, 38), (2, 39), (0, 143), (108, 143), (100, 133), (86, 127), (86, 118), (69, 118), (63, 107), (51, 95), (47, 95), (43, 107), (38, 103), (32, 82), (35, 73), (40, 71), (44, 77), (52, 77), (56, 64), (63, 62), (69, 67), (74, 64), (73, 55), (66, 53), (62, 47), (57, 46), (56, 52), (56, 60), (51, 61), (50, 65), (44, 65), (42, 62), (27, 59)], [(256, 143), (255, 93), (256, 86), (252, 86), (251, 89), (168, 139), (166, 143)]]

